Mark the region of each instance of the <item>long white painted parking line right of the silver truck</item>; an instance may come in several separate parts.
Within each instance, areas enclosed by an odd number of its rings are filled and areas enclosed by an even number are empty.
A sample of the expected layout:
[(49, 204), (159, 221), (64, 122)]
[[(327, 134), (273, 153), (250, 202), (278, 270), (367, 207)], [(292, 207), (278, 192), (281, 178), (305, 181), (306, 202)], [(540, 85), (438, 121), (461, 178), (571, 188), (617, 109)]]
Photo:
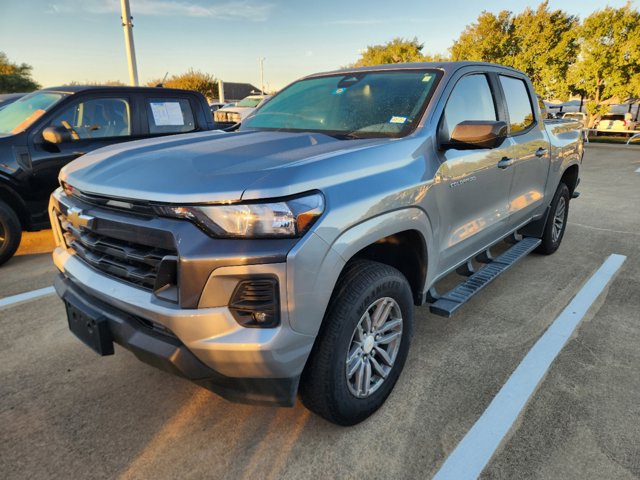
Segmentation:
[(584, 284), (447, 457), (433, 477), (434, 480), (478, 478), (589, 307), (611, 282), (626, 258), (624, 255), (610, 255)]

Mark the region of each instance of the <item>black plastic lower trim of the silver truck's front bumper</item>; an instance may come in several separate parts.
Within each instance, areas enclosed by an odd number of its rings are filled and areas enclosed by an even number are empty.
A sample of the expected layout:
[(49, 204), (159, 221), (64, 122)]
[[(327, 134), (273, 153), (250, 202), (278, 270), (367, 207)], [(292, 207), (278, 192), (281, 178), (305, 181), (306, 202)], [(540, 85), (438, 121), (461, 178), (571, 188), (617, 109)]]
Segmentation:
[(56, 276), (54, 286), (65, 302), (105, 317), (113, 340), (149, 365), (191, 380), (234, 402), (285, 407), (295, 403), (299, 376), (227, 377), (202, 363), (178, 338), (158, 333), (141, 319), (98, 300), (63, 274)]

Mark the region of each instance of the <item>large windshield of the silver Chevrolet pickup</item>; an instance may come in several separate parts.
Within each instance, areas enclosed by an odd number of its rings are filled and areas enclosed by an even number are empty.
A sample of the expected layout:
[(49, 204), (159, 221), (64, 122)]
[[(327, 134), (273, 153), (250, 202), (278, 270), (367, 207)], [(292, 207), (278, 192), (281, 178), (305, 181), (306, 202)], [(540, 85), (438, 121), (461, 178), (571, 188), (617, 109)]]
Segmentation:
[(439, 76), (436, 70), (403, 69), (306, 78), (264, 104), (241, 129), (350, 139), (404, 136), (420, 121)]

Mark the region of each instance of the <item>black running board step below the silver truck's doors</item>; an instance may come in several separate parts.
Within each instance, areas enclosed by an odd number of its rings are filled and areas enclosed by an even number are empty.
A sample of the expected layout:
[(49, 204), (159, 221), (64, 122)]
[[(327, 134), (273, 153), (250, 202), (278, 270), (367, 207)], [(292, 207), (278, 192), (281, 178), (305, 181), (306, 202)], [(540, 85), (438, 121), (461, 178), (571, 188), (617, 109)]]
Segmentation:
[(541, 242), (542, 240), (539, 238), (526, 237), (515, 243), (513, 247), (489, 262), (457, 287), (439, 296), (429, 307), (431, 313), (442, 317), (450, 317), (467, 300), (489, 285), (498, 275), (505, 272), (518, 260), (526, 257)]

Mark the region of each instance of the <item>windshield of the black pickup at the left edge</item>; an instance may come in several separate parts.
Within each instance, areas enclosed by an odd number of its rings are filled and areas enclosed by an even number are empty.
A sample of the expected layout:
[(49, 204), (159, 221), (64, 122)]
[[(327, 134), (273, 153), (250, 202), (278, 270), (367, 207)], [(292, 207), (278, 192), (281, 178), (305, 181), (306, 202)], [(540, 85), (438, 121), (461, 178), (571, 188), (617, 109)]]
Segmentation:
[(23, 132), (66, 96), (57, 92), (34, 92), (7, 105), (0, 110), (0, 135)]

